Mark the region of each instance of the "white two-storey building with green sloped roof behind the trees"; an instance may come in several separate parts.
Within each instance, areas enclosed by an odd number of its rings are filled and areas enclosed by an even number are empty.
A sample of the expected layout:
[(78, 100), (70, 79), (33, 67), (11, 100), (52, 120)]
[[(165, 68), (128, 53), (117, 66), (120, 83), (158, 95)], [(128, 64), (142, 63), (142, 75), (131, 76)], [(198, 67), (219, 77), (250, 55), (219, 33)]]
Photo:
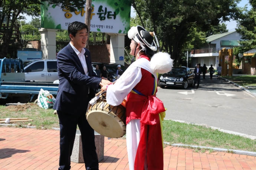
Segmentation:
[(217, 68), (219, 64), (219, 50), (222, 48), (240, 47), (238, 40), (241, 40), (241, 36), (236, 31), (227, 33), (215, 34), (206, 38), (208, 44), (201, 49), (192, 50), (191, 66), (200, 63), (206, 64), (206, 67), (210, 67), (212, 64), (214, 68)]

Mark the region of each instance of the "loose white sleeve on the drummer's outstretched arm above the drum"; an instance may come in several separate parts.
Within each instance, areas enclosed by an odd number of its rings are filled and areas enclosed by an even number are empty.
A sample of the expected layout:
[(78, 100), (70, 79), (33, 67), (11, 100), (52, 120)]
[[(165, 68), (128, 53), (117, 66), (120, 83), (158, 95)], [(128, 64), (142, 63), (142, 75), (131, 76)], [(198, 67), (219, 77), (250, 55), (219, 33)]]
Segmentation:
[(106, 92), (107, 103), (112, 106), (120, 105), (129, 92), (140, 82), (141, 77), (140, 67), (128, 68), (115, 84), (108, 86)]

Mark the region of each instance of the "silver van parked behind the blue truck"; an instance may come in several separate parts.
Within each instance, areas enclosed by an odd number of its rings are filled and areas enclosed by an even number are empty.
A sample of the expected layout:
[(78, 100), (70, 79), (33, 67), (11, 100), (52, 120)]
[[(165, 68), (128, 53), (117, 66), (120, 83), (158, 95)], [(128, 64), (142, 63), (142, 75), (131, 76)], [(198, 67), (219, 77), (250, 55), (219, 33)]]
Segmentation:
[(55, 81), (59, 79), (56, 59), (35, 59), (23, 62), (26, 80)]

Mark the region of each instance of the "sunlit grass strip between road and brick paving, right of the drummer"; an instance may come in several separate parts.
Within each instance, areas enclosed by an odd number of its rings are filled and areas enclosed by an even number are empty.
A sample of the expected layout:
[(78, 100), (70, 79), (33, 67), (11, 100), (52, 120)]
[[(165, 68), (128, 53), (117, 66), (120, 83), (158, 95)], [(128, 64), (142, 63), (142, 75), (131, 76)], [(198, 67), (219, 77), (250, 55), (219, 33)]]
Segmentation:
[(163, 121), (163, 135), (164, 141), (170, 143), (256, 152), (256, 140), (172, 120)]

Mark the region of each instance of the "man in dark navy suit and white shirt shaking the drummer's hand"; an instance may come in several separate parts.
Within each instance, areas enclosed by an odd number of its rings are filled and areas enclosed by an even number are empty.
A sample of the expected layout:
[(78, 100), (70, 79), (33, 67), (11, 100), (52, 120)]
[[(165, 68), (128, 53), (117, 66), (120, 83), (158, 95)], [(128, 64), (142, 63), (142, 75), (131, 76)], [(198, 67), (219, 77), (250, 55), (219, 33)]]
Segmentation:
[(88, 27), (81, 22), (68, 26), (70, 43), (58, 52), (59, 90), (53, 109), (57, 110), (60, 125), (59, 170), (70, 170), (70, 156), (78, 125), (82, 137), (86, 170), (98, 170), (94, 130), (86, 120), (89, 101), (99, 83), (110, 82), (97, 78), (92, 70), (91, 55), (85, 48)]

